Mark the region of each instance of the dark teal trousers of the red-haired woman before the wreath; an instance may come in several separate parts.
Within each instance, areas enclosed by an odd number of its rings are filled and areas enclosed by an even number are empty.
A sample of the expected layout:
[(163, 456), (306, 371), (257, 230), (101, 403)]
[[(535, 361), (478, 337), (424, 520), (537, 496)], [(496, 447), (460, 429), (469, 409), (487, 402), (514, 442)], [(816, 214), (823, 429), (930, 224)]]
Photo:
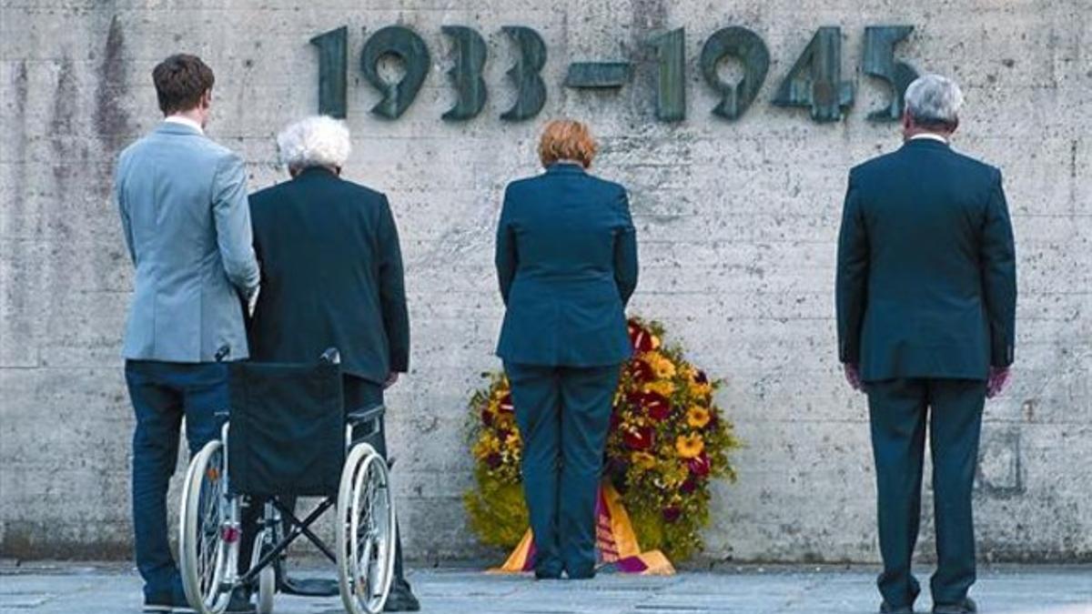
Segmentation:
[(619, 368), (505, 363), (539, 572), (581, 578), (595, 569), (595, 503)]

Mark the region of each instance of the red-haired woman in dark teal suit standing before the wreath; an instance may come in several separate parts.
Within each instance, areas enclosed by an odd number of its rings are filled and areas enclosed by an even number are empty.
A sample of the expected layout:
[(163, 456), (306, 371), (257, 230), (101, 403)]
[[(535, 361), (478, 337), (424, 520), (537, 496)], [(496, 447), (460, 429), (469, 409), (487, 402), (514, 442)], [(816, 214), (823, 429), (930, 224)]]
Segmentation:
[(595, 499), (637, 286), (626, 190), (587, 174), (595, 142), (578, 121), (547, 125), (546, 173), (505, 191), (497, 276), (507, 310), (497, 355), (523, 437), (535, 577), (595, 575)]

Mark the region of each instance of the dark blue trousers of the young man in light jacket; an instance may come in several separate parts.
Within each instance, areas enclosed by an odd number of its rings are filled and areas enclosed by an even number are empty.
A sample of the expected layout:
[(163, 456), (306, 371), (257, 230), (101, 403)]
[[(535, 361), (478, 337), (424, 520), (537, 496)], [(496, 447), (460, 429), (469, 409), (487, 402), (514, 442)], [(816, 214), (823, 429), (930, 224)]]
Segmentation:
[(167, 486), (178, 462), (186, 417), (190, 456), (219, 433), (227, 410), (227, 366), (127, 361), (126, 383), (136, 414), (133, 433), (133, 531), (145, 599), (179, 594), (181, 578), (167, 541)]

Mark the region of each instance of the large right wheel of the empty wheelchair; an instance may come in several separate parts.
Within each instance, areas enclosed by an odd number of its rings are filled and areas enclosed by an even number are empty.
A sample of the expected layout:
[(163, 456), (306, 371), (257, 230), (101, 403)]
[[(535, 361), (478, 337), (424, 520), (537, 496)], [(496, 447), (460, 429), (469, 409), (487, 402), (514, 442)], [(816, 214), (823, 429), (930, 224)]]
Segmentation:
[(337, 575), (351, 614), (382, 612), (394, 577), (394, 497), (387, 462), (367, 444), (348, 453), (337, 493)]

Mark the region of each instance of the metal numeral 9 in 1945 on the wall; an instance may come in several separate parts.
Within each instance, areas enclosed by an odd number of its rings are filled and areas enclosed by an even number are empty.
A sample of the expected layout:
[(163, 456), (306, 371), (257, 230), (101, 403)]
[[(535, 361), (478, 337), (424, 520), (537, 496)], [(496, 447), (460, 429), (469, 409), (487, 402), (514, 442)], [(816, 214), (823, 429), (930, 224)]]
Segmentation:
[[(738, 58), (744, 64), (739, 83), (725, 83), (716, 67), (724, 58)], [(770, 70), (770, 50), (759, 35), (746, 27), (725, 27), (705, 40), (701, 49), (701, 72), (705, 83), (721, 94), (721, 103), (713, 114), (725, 119), (739, 119), (755, 102), (765, 73)]]

